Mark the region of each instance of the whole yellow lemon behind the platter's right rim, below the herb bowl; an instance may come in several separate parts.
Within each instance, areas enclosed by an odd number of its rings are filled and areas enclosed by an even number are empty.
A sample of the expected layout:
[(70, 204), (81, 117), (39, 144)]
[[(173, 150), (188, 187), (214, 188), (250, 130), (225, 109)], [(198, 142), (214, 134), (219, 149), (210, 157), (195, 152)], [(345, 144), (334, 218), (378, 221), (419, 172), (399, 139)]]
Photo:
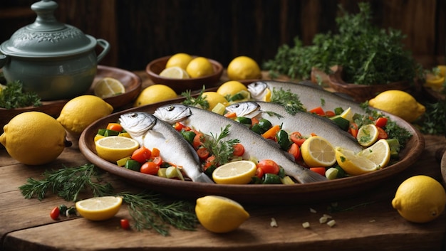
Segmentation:
[(388, 90), (368, 101), (368, 105), (395, 114), (407, 122), (414, 122), (425, 113), (426, 108), (408, 92)]

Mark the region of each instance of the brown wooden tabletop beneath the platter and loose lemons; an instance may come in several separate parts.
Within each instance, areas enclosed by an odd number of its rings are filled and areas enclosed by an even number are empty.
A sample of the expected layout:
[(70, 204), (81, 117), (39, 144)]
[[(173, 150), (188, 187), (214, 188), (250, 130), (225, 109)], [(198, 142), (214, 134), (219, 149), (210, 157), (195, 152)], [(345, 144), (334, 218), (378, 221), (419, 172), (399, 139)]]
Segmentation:
[[(49, 213), (63, 201), (49, 195), (43, 201), (27, 200), (19, 186), (29, 177), (41, 178), (43, 171), (88, 163), (76, 147), (45, 166), (26, 166), (0, 149), (0, 250), (445, 250), (446, 218), (430, 223), (409, 223), (392, 208), (398, 185), (410, 176), (425, 174), (443, 182), (437, 154), (445, 137), (425, 135), (425, 150), (412, 166), (370, 191), (338, 203), (350, 208), (329, 213), (332, 201), (298, 205), (245, 205), (251, 218), (232, 233), (210, 233), (201, 225), (196, 231), (171, 228), (163, 237), (152, 231), (120, 228), (120, 218), (129, 218), (125, 206), (115, 218), (93, 222), (85, 218), (52, 220)], [(436, 156), (437, 154), (437, 156)], [(142, 191), (114, 176), (107, 176), (116, 191)], [(310, 208), (316, 210), (311, 213)], [(330, 214), (336, 225), (320, 224)], [(275, 218), (278, 227), (270, 225)], [(303, 228), (308, 221), (310, 228)]]

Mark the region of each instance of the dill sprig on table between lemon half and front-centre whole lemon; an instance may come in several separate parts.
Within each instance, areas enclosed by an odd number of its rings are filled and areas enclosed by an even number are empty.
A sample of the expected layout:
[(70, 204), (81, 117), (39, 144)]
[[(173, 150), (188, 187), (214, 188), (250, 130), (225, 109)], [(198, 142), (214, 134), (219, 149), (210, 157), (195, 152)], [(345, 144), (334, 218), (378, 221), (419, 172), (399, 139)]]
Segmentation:
[(133, 227), (138, 230), (153, 229), (160, 235), (169, 235), (169, 225), (179, 230), (195, 230), (197, 216), (192, 203), (175, 201), (164, 203), (155, 193), (118, 193), (123, 201), (128, 203), (130, 215), (135, 223)]

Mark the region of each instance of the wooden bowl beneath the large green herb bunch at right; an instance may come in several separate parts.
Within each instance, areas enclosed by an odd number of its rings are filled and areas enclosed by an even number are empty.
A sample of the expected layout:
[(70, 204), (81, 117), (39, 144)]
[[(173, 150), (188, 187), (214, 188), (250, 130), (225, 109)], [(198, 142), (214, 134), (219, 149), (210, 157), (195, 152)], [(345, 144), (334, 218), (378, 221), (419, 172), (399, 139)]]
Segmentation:
[(350, 95), (356, 102), (365, 102), (375, 97), (378, 93), (386, 90), (403, 90), (405, 92), (411, 92), (417, 89), (417, 83), (415, 83), (415, 86), (412, 86), (406, 81), (391, 82), (383, 85), (356, 85), (346, 83), (343, 81), (342, 66), (338, 66), (333, 74), (328, 75), (328, 85), (330, 85), (333, 90), (336, 90), (336, 92)]

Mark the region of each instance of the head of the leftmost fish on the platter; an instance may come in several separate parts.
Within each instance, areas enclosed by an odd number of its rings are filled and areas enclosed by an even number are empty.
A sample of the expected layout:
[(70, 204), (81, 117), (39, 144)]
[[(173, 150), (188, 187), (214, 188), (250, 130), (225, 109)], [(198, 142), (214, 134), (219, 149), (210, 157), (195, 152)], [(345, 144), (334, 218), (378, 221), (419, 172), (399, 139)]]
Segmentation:
[(157, 123), (157, 118), (147, 112), (129, 112), (122, 114), (119, 122), (132, 137), (138, 137), (152, 129)]

